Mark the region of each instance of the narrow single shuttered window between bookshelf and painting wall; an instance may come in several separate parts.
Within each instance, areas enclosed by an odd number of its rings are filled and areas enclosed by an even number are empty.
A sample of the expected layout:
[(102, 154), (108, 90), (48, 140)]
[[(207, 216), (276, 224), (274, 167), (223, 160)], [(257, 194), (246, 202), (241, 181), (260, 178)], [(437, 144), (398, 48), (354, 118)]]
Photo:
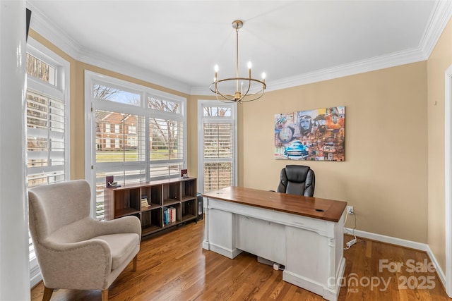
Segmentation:
[(198, 103), (198, 183), (210, 192), (237, 183), (237, 104)]

